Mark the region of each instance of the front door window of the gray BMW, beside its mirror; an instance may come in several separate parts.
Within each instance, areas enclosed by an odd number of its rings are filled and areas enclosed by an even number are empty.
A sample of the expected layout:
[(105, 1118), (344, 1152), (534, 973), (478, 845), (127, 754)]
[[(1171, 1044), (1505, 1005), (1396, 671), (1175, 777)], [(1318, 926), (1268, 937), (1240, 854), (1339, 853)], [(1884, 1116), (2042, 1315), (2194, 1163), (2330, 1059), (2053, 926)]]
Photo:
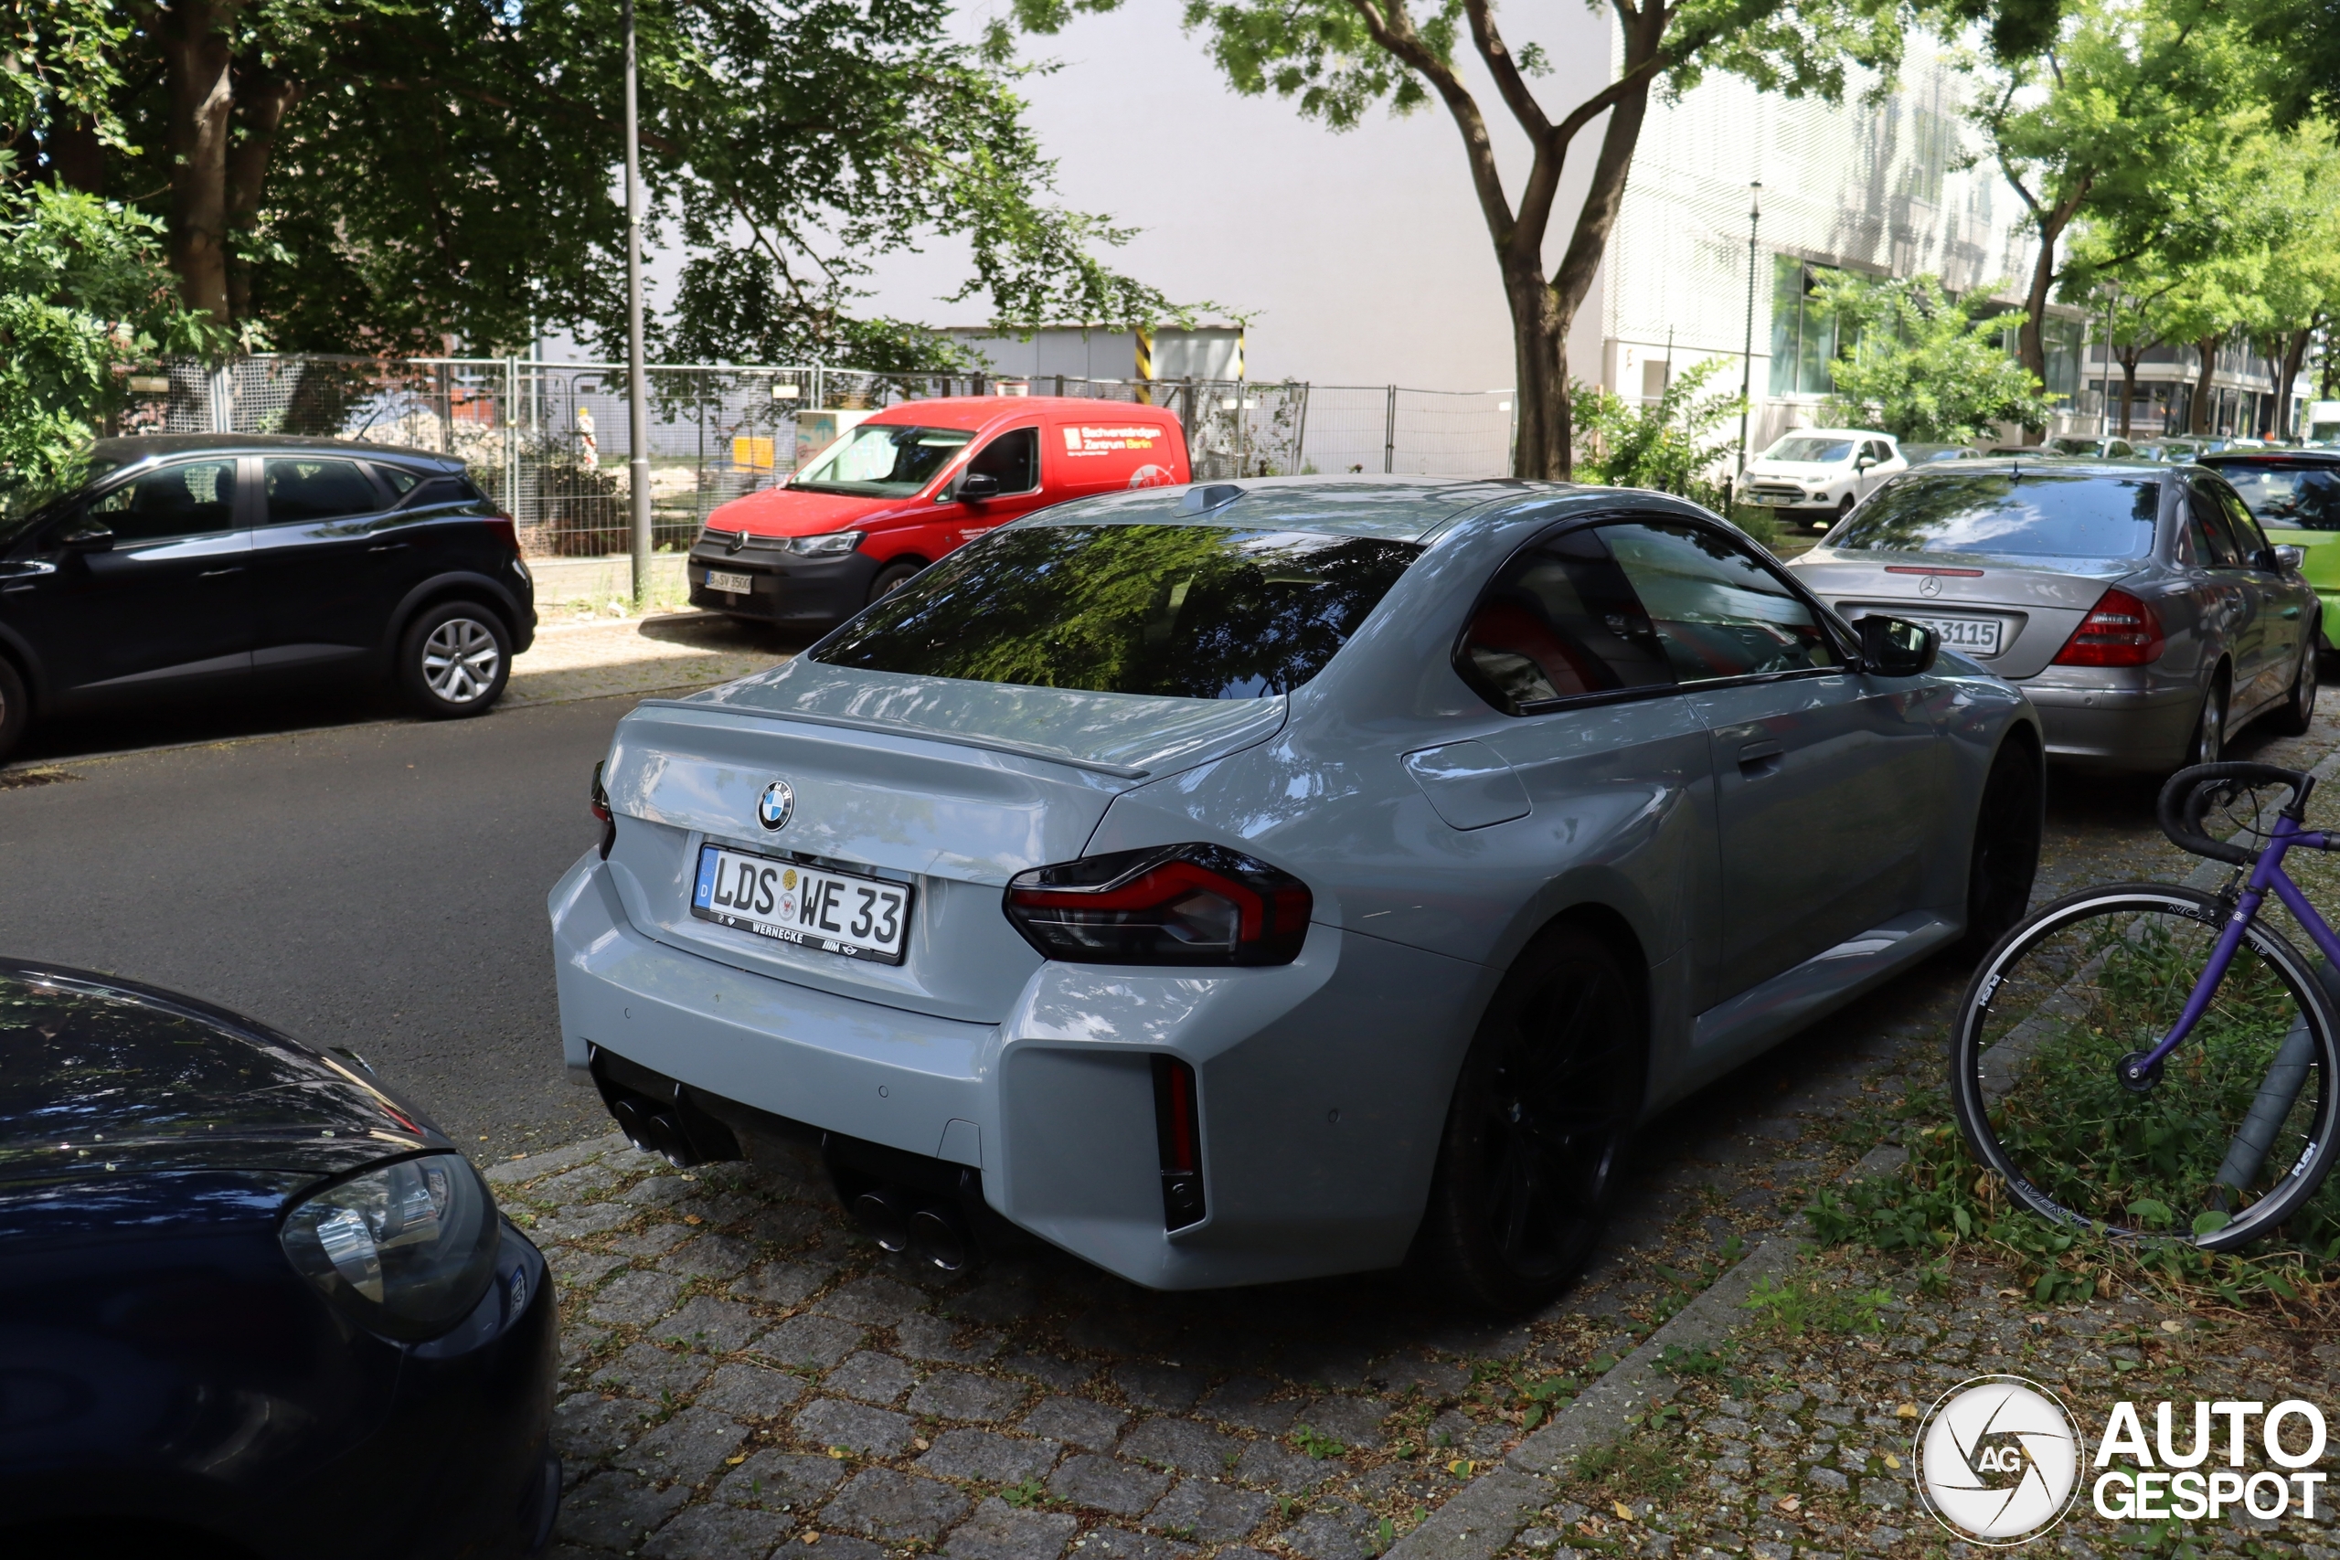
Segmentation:
[(1818, 613), (1746, 547), (1659, 522), (1601, 526), (1601, 538), (1682, 683), (1844, 664)]

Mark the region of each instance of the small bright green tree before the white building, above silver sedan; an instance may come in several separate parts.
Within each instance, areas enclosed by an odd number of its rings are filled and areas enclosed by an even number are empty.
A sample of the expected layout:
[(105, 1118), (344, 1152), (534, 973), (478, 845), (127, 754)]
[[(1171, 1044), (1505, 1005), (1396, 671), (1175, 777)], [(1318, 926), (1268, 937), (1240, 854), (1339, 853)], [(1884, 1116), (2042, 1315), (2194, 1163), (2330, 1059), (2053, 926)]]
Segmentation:
[(1830, 271), (1814, 302), (1853, 346), (1830, 365), (1837, 391), (1821, 421), (1930, 444), (1963, 444), (1991, 423), (2043, 426), (2040, 381), (2005, 348), (2022, 311), (1989, 304), (1991, 292), (1949, 297), (1938, 276)]

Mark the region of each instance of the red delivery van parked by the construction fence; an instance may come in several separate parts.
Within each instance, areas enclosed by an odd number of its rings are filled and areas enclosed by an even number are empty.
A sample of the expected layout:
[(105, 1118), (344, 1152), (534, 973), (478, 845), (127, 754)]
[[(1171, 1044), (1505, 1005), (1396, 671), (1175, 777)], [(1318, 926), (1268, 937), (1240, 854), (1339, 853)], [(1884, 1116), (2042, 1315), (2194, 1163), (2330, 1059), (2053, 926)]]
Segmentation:
[(1186, 430), (1168, 407), (908, 400), (849, 428), (784, 486), (709, 515), (690, 547), (690, 603), (826, 629), (1020, 515), (1189, 479)]

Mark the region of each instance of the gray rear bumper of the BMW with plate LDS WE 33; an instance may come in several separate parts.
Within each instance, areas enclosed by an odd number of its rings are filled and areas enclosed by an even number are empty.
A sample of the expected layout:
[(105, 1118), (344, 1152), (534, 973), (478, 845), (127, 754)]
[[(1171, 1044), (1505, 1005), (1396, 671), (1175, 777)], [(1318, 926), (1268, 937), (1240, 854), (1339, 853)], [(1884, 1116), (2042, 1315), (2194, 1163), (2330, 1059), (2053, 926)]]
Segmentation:
[[(562, 1041), (725, 1104), (980, 1172), (1006, 1221), (1151, 1289), (1397, 1265), (1495, 971), (1310, 926), (1280, 968), (1041, 966), (999, 1024), (746, 973), (636, 931), (594, 854), (550, 898)], [(1196, 1071), (1205, 1219), (1165, 1230), (1154, 1055)]]

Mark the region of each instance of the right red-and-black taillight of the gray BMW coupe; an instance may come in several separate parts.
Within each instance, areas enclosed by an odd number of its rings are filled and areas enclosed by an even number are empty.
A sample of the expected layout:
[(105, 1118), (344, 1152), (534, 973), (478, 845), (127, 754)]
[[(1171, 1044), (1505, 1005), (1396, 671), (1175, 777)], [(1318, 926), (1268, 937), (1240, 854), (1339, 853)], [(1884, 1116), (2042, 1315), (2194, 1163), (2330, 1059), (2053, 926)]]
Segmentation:
[(1009, 879), (1016, 931), (1076, 964), (1292, 964), (1308, 884), (1224, 844), (1083, 856)]

